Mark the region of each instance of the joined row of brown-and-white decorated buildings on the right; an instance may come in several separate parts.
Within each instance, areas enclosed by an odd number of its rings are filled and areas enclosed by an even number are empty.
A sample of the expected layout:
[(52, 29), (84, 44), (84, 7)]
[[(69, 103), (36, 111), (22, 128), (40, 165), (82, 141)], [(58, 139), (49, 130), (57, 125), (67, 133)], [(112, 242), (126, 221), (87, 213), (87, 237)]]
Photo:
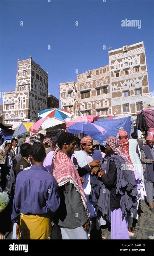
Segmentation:
[(109, 65), (77, 75), (76, 83), (60, 84), (61, 108), (74, 117), (136, 115), (149, 97), (143, 42), (109, 51)]

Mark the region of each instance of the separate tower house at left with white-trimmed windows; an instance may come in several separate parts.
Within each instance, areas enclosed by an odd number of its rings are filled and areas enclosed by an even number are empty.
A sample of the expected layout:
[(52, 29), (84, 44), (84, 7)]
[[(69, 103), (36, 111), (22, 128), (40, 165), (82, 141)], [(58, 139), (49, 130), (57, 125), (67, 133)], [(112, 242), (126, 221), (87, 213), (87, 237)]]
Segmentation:
[(38, 112), (48, 106), (47, 96), (48, 73), (32, 57), (18, 60), (16, 89), (3, 95), (3, 121), (37, 121)]

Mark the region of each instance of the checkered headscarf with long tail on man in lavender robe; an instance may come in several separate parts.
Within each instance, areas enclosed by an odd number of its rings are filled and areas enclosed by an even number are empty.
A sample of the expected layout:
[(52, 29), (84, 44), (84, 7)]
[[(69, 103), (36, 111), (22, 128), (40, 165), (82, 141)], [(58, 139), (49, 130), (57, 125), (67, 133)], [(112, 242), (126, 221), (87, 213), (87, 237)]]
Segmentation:
[(113, 150), (113, 152), (118, 155), (121, 156), (123, 158), (123, 160), (127, 163), (127, 167), (130, 170), (133, 170), (133, 165), (130, 163), (130, 161), (127, 158), (127, 155), (124, 154), (124, 152), (122, 151), (121, 147), (120, 147), (120, 141), (118, 140), (118, 138), (114, 137), (114, 136), (109, 136), (106, 139), (106, 144), (108, 144), (110, 146), (110, 148)]

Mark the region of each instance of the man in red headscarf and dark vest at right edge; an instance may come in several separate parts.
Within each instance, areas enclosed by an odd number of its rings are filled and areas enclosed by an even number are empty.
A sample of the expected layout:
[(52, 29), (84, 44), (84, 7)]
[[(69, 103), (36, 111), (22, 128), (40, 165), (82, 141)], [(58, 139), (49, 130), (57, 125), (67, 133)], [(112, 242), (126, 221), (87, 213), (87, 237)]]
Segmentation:
[(146, 180), (146, 193), (147, 202), (149, 203), (149, 210), (154, 213), (153, 207), (153, 189), (154, 189), (154, 137), (148, 136), (146, 144), (141, 148), (141, 163), (143, 165), (145, 180)]

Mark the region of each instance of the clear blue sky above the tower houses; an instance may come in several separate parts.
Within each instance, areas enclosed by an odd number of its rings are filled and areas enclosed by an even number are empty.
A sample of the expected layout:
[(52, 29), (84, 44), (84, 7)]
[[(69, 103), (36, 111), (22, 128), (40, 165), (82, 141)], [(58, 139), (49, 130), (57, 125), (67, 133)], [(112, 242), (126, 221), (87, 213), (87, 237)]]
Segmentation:
[[(76, 81), (76, 69), (81, 74), (109, 64), (109, 45), (114, 50), (141, 41), (153, 91), (153, 7), (153, 0), (1, 0), (1, 92), (15, 90), (17, 59), (32, 56), (49, 72), (49, 92), (59, 99), (59, 83)], [(141, 20), (141, 29), (122, 27), (126, 18)]]

